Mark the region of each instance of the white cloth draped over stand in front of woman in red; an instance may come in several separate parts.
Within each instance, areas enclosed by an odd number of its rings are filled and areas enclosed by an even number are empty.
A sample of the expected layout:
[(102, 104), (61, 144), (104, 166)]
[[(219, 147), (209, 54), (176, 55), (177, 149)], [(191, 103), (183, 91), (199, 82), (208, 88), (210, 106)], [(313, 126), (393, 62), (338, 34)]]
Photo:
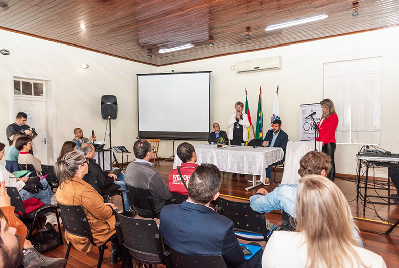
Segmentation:
[[(316, 148), (319, 148), (319, 145), (317, 145)], [(299, 182), (299, 160), (307, 152), (313, 151), (314, 149), (315, 142), (288, 142), (281, 184), (296, 184)]]

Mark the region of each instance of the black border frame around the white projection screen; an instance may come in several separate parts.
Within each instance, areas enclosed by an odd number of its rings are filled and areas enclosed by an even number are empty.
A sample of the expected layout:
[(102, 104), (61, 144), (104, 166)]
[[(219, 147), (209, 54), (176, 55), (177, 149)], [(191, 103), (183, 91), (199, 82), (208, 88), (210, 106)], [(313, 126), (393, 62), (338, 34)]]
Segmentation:
[[(211, 122), (211, 72), (212, 71), (199, 71), (199, 72), (171, 72), (171, 73), (146, 73), (136, 74), (137, 75), (137, 129), (138, 137), (143, 139), (161, 139), (161, 140), (196, 140), (205, 141), (208, 140), (210, 132)], [(139, 76), (150, 76), (150, 75), (176, 75), (176, 74), (195, 74), (195, 73), (208, 73), (209, 74), (209, 86), (208, 86), (208, 132), (172, 132), (172, 131), (140, 131), (140, 106), (139, 106), (139, 87), (138, 79)]]

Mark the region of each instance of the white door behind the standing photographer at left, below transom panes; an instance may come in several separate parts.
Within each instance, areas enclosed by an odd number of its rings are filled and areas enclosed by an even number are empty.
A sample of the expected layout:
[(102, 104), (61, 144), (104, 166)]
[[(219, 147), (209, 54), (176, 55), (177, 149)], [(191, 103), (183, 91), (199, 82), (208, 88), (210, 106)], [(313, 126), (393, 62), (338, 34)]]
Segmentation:
[(34, 100), (29, 97), (15, 97), (14, 110), (16, 113), (25, 112), (28, 115), (26, 122), (38, 134), (33, 140), (33, 154), (42, 164), (48, 164), (47, 135), (46, 135), (46, 100)]

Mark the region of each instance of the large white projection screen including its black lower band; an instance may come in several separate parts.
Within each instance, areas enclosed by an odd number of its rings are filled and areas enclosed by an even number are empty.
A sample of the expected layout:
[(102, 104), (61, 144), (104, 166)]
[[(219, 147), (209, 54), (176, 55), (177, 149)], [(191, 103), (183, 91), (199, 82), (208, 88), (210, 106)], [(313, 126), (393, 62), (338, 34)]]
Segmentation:
[(140, 138), (206, 140), (211, 72), (137, 74)]

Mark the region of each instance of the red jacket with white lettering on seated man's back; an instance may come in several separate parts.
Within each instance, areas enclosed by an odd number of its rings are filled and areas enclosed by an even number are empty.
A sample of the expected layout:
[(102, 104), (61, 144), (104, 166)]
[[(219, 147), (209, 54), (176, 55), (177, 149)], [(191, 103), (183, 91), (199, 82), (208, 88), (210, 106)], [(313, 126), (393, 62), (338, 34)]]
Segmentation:
[[(190, 163), (181, 163), (180, 172), (183, 176), (183, 180), (188, 187), (188, 180), (190, 180), (191, 174), (194, 173), (195, 169), (197, 168), (197, 164), (190, 164)], [(176, 192), (182, 195), (188, 195), (187, 189), (184, 187), (183, 182), (180, 179), (179, 171), (173, 169), (172, 172), (169, 174), (168, 178), (169, 182), (169, 190), (171, 192)]]

